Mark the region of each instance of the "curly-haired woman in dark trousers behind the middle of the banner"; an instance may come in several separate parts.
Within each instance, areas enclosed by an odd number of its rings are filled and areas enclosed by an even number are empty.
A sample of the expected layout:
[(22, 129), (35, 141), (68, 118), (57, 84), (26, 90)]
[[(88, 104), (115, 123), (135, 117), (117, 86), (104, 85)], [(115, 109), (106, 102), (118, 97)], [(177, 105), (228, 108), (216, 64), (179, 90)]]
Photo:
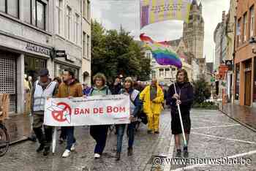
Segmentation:
[[(94, 87), (91, 88), (89, 96), (111, 95), (111, 91), (109, 90), (108, 86), (105, 85), (106, 81), (107, 79), (102, 73), (97, 73), (96, 75), (94, 75)], [(90, 126), (90, 134), (91, 137), (93, 137), (96, 141), (96, 145), (94, 148), (94, 159), (99, 159), (106, 145), (108, 137), (108, 125)]]

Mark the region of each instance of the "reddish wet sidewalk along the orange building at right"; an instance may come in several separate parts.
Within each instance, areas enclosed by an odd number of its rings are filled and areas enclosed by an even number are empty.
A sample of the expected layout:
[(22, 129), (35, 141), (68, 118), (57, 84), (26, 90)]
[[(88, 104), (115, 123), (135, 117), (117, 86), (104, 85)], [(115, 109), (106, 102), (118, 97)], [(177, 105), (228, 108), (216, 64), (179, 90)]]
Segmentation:
[[(221, 107), (222, 110), (222, 107)], [(225, 104), (223, 113), (235, 120), (255, 129), (256, 131), (256, 108), (240, 106), (238, 104)]]

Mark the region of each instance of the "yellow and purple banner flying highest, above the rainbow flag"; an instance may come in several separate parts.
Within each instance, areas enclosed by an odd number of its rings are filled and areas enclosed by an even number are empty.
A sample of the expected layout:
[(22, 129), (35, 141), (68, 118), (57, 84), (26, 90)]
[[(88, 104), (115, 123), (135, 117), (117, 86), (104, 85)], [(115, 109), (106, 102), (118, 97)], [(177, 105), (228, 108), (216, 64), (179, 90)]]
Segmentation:
[(140, 28), (163, 20), (188, 23), (191, 0), (140, 0)]

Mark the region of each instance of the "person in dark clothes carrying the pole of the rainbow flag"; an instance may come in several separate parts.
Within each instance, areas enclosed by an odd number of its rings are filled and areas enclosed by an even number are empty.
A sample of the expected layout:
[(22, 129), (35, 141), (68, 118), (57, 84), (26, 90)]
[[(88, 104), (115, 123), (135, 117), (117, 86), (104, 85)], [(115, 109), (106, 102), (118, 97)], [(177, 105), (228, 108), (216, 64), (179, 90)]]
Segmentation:
[[(181, 121), (178, 115), (177, 104), (180, 104), (181, 107), (181, 118), (184, 126), (184, 132), (187, 142), (189, 142), (189, 133), (191, 128), (190, 121), (190, 110), (193, 102), (193, 87), (189, 83), (189, 78), (187, 76), (187, 71), (185, 69), (179, 69), (176, 75), (175, 86), (177, 88), (177, 94), (175, 93), (174, 85), (171, 85), (167, 91), (167, 100), (166, 104), (171, 107), (171, 129), (172, 134), (175, 136), (176, 143), (176, 157), (181, 157), (181, 147), (180, 147), (180, 134), (181, 130)], [(189, 156), (187, 145), (184, 145), (184, 157)]]

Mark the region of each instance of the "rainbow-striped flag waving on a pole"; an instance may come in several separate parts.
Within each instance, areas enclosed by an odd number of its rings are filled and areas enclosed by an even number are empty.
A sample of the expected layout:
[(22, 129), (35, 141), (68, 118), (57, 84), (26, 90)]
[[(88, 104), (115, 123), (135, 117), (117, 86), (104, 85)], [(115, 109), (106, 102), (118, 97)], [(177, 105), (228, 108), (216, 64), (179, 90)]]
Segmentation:
[(159, 42), (154, 42), (150, 37), (140, 34), (140, 40), (145, 42), (145, 47), (151, 50), (153, 57), (160, 65), (173, 65), (178, 68), (182, 67), (181, 58), (171, 49), (170, 46), (164, 45)]

